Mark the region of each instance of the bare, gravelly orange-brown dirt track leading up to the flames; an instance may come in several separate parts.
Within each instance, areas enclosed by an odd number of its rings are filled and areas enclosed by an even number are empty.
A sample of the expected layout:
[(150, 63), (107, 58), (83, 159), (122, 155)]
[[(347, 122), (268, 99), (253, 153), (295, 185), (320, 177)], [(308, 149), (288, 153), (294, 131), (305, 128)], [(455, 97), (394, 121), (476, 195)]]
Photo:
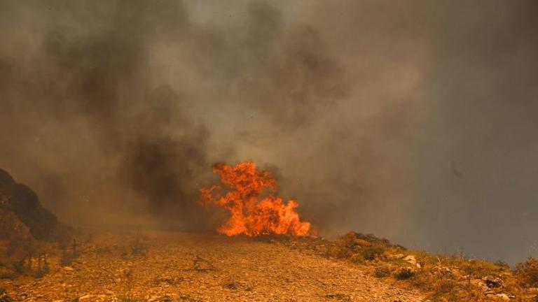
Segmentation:
[(422, 301), (359, 266), (278, 242), (94, 231), (78, 245), (69, 266), (50, 257), (42, 278), (0, 280), (0, 288), (12, 301)]

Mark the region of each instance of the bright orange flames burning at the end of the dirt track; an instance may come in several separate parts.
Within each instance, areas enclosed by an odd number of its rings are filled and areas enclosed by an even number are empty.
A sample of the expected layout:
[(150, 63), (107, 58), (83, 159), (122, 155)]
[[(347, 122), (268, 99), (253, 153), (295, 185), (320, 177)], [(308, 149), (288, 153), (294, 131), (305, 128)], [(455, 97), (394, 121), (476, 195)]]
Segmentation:
[[(258, 170), (252, 161), (235, 166), (215, 164), (213, 173), (221, 175), (221, 183), (200, 189), (200, 203), (205, 208), (215, 204), (230, 212), (230, 218), (217, 231), (227, 236), (245, 234), (291, 234), (305, 236), (310, 222), (301, 222), (298, 203), (284, 203), (275, 196), (277, 182), (270, 171)], [(224, 187), (228, 187), (224, 192)], [(261, 199), (267, 189), (269, 195)], [(261, 199), (261, 200), (260, 200)]]

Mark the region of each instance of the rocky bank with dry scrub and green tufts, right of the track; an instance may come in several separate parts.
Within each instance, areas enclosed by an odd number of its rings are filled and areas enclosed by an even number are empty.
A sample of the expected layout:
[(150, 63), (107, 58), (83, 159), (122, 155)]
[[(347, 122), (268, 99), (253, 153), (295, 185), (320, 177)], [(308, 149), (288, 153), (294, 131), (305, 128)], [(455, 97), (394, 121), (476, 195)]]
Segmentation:
[(502, 262), (406, 250), (389, 240), (349, 232), (339, 240), (286, 238), (296, 250), (359, 266), (392, 285), (418, 289), (425, 301), (538, 301), (538, 260), (512, 270)]

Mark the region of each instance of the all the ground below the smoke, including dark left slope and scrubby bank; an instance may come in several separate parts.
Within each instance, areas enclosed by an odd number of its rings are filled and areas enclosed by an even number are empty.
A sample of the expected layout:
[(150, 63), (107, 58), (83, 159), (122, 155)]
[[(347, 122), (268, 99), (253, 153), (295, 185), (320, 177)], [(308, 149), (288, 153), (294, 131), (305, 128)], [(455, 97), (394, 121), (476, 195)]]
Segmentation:
[(0, 170), (0, 302), (12, 301), (538, 301), (538, 259), (512, 269), (355, 232), (74, 231)]

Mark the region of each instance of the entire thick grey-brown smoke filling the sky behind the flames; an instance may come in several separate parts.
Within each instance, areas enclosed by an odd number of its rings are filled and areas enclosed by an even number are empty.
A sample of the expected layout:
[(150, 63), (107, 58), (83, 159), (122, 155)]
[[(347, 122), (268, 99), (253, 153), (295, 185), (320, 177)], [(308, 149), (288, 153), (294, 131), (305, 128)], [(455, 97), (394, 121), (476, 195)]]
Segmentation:
[(322, 234), (513, 262), (538, 242), (536, 13), (0, 0), (0, 167), (63, 220), (200, 227), (211, 164), (252, 159)]

